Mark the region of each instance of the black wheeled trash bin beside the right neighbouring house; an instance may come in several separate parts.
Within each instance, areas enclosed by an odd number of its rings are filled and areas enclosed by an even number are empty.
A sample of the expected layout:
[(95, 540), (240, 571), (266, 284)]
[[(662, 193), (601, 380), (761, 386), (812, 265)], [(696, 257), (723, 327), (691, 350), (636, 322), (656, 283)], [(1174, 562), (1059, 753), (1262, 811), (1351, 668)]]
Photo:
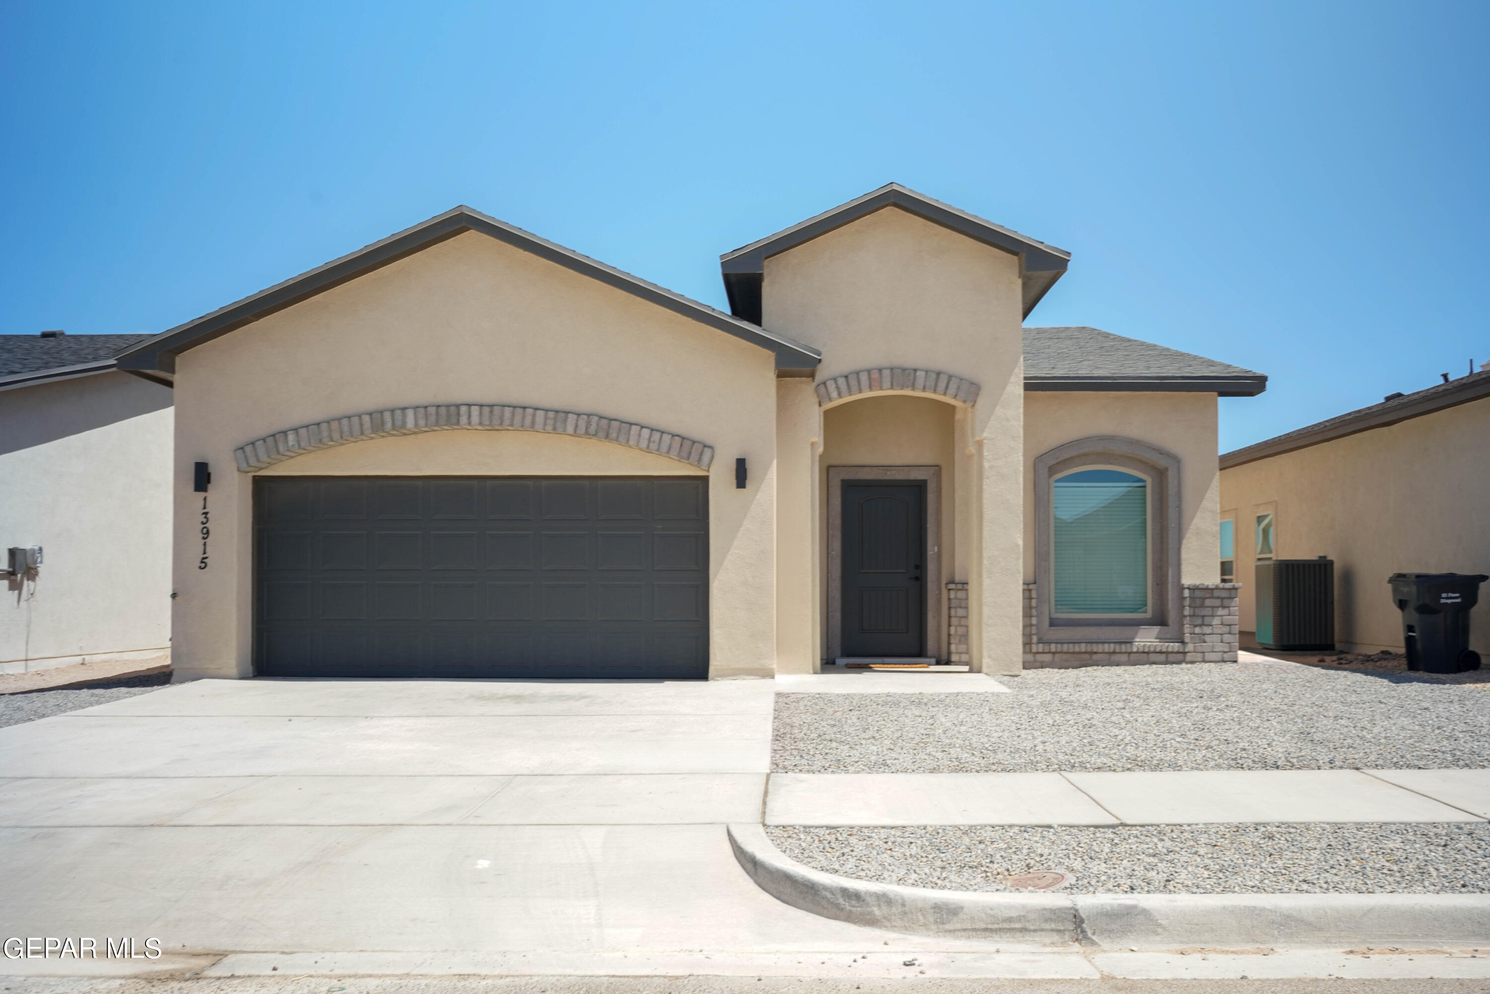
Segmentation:
[(1480, 601), (1480, 584), (1490, 577), (1460, 572), (1395, 572), (1392, 599), (1402, 611), (1407, 668), (1427, 674), (1462, 674), (1480, 669), (1480, 653), (1469, 648), (1469, 610)]

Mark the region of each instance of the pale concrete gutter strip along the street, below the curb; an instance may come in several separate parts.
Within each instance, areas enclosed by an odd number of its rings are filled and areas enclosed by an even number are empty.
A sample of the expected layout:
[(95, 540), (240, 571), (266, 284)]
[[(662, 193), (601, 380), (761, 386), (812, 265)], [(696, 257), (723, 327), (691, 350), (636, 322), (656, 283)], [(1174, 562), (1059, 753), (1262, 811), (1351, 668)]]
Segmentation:
[[(158, 979), (122, 985), (112, 978)], [(1442, 949), (1247, 949), (915, 952), (755, 952), (684, 949), (669, 954), (544, 951), (171, 955), (130, 961), (12, 960), (0, 966), (16, 994), (733, 994), (811, 990), (851, 994), (915, 985), (925, 994), (1193, 994), (1256, 990), (1195, 981), (1272, 981), (1268, 991), (1417, 994), (1484, 991), (1490, 955)], [(1292, 982), (1290, 982), (1292, 981)], [(1407, 984), (1402, 981), (1429, 981)], [(1456, 984), (1454, 981), (1460, 981)], [(811, 988), (805, 984), (811, 982)], [(1302, 984), (1301, 984), (1302, 982)]]

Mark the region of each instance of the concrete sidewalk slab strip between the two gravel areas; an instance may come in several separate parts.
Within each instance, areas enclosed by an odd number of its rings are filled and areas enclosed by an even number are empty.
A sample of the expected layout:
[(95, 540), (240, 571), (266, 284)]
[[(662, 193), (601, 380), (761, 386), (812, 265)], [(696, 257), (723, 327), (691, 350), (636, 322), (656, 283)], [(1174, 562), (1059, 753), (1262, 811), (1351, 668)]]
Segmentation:
[(769, 826), (1490, 820), (1490, 770), (772, 773)]

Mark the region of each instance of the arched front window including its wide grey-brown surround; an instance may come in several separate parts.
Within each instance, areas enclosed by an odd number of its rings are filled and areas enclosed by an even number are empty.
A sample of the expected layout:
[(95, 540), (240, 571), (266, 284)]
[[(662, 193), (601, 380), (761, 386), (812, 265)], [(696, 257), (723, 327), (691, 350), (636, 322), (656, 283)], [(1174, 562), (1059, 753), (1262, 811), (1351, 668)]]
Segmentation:
[(1034, 489), (1037, 639), (1180, 639), (1180, 460), (1079, 438), (1034, 460)]

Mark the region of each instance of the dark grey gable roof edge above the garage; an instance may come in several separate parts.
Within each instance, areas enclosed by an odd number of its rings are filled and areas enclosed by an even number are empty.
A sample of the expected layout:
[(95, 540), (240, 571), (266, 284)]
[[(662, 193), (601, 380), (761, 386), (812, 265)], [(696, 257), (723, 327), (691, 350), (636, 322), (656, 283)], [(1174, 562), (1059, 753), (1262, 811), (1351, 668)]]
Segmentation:
[(252, 297), (244, 297), (243, 300), (228, 304), (226, 307), (221, 307), (210, 314), (188, 320), (185, 325), (177, 325), (170, 331), (162, 331), (149, 341), (143, 341), (119, 356), (119, 368), (130, 371), (156, 370), (161, 373), (174, 373), (176, 356), (188, 349), (200, 346), (204, 341), (212, 341), (219, 335), (243, 328), (247, 323), (285, 310), (286, 307), (294, 307), (295, 304), (317, 294), (323, 294), (335, 286), (371, 273), (372, 270), (378, 270), (390, 262), (396, 262), (466, 231), (475, 231), (490, 238), (496, 238), (498, 241), (519, 247), (523, 252), (530, 252), (541, 259), (562, 265), (566, 270), (572, 270), (581, 276), (589, 276), (590, 279), (599, 280), (606, 286), (614, 286), (615, 289), (670, 310), (675, 314), (682, 314), (684, 317), (690, 317), (702, 325), (708, 325), (709, 328), (723, 331), (729, 335), (735, 335), (736, 338), (773, 352), (779, 374), (811, 376), (811, 371), (817, 368), (822, 358), (822, 353), (811, 346), (793, 341), (785, 335), (769, 332), (758, 325), (726, 314), (724, 311), (715, 310), (708, 304), (700, 304), (699, 301), (690, 300), (682, 294), (675, 294), (669, 289), (657, 286), (656, 283), (648, 283), (647, 280), (638, 279), (630, 273), (623, 273), (615, 267), (605, 265), (603, 262), (580, 255), (572, 249), (566, 249), (562, 244), (548, 241), (547, 238), (539, 238), (538, 235), (523, 231), (522, 228), (516, 228), (510, 224), (498, 221), (496, 218), (462, 206), (453, 207), (451, 210), (437, 215), (429, 221), (414, 225), (413, 228), (405, 228), (404, 231), (392, 234), (381, 241), (374, 241), (372, 244), (358, 249), (350, 255), (344, 255), (340, 259), (332, 259), (331, 262), (319, 265), (308, 273), (301, 273), (299, 276), (285, 280), (283, 283), (259, 291)]

